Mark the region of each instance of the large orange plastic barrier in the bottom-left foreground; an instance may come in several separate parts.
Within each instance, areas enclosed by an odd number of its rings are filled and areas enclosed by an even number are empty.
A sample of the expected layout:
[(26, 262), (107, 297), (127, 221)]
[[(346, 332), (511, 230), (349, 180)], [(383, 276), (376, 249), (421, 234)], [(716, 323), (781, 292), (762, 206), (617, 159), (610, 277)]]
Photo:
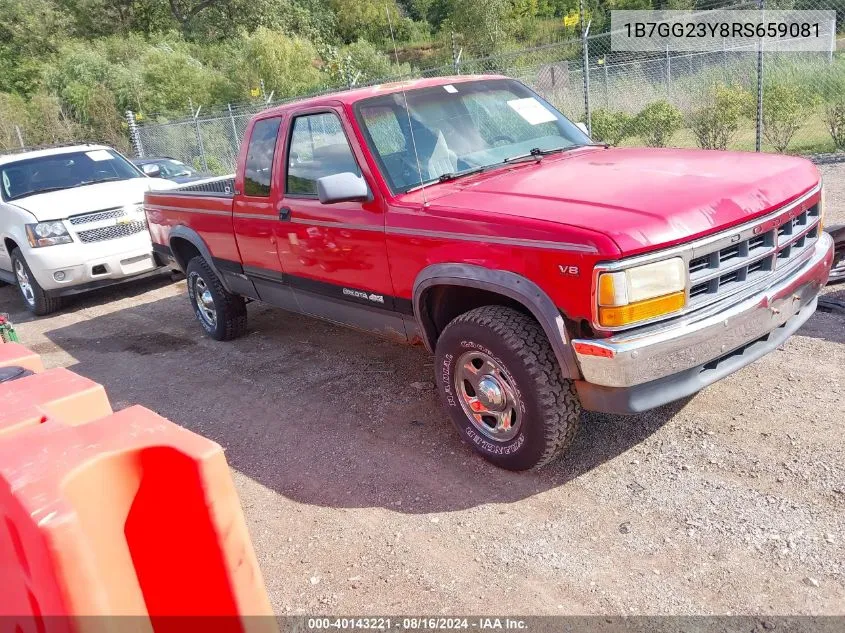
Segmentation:
[(218, 444), (66, 370), (0, 387), (3, 628), (275, 630)]

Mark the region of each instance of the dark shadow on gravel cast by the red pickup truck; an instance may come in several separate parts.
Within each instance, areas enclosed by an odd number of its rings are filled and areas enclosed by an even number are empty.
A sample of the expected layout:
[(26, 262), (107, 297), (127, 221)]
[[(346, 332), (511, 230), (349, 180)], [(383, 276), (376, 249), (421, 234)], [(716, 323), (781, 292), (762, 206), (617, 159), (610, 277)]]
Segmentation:
[(461, 444), (422, 348), (256, 304), (250, 323), (244, 338), (217, 343), (179, 295), (46, 336), (116, 409), (147, 406), (222, 444), (232, 467), (267, 488), (320, 506), (422, 513), (516, 501), (627, 451), (684, 404), (584, 415), (565, 459), (514, 474)]

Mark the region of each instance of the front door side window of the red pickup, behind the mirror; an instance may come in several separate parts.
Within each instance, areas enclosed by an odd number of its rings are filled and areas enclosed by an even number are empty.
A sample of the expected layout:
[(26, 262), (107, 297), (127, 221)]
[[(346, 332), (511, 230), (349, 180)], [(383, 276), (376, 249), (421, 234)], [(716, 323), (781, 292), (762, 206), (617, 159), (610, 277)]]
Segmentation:
[(337, 115), (324, 112), (294, 119), (287, 193), (316, 197), (318, 179), (344, 172), (361, 175)]

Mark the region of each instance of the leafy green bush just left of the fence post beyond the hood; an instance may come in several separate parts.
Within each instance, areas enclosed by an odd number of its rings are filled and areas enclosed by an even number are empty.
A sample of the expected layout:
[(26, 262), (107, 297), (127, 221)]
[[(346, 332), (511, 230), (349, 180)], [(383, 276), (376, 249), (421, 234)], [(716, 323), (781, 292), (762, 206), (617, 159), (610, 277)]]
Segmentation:
[(689, 117), (689, 127), (698, 146), (727, 149), (753, 106), (753, 97), (741, 86), (717, 84), (708, 95), (708, 104)]

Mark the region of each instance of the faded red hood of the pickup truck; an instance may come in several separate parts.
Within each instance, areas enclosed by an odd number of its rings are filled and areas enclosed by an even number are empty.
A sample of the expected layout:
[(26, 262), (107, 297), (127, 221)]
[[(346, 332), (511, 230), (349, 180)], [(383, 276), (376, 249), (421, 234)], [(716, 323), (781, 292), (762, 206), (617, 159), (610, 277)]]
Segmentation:
[(577, 226), (626, 255), (741, 224), (819, 182), (802, 158), (677, 149), (585, 149), (455, 181), (436, 204)]

